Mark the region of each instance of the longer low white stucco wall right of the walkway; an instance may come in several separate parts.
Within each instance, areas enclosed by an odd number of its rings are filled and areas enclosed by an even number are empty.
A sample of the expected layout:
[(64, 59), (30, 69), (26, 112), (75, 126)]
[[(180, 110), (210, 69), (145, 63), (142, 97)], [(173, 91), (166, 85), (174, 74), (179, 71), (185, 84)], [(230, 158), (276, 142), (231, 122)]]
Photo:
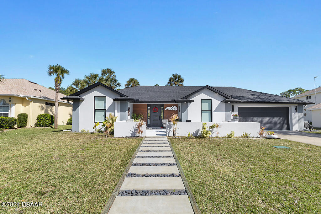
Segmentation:
[[(178, 122), (177, 123), (177, 136), (188, 136), (191, 133), (193, 136), (198, 136), (202, 131), (202, 122)], [(207, 127), (211, 126), (213, 122), (207, 122)], [(231, 131), (235, 132), (235, 136), (241, 136), (243, 132), (251, 133), (251, 137), (259, 137), (257, 132), (260, 130), (260, 123), (246, 122), (246, 123), (232, 123), (221, 122), (219, 123), (221, 128), (218, 129), (219, 137), (224, 137)], [(172, 122), (166, 123), (166, 135), (173, 136), (173, 124)], [(216, 136), (216, 132), (213, 131), (212, 137)]]

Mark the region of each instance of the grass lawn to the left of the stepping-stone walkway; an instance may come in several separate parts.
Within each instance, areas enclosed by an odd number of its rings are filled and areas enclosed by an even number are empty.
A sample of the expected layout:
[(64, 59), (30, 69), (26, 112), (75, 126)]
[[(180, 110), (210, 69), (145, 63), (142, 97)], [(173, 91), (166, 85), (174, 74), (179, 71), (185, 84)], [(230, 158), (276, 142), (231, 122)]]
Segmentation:
[(100, 213), (141, 138), (16, 129), (0, 135), (0, 202), (40, 201), (12, 213)]

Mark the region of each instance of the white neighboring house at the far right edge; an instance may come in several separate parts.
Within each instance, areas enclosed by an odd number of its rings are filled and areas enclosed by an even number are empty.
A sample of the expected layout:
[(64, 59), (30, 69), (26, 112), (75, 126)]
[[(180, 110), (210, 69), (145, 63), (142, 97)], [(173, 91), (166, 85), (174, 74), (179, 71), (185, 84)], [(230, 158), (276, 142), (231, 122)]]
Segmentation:
[(293, 98), (310, 101), (303, 107), (304, 121), (312, 122), (314, 127), (321, 127), (321, 87), (296, 95)]

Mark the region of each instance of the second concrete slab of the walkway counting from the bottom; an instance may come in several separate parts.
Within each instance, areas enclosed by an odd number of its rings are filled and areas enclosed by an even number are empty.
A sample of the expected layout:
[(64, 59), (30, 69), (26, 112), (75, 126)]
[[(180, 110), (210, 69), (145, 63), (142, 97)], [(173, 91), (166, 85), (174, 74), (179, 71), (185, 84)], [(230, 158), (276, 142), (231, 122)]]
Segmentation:
[(141, 177), (125, 178), (120, 190), (183, 190), (181, 177)]

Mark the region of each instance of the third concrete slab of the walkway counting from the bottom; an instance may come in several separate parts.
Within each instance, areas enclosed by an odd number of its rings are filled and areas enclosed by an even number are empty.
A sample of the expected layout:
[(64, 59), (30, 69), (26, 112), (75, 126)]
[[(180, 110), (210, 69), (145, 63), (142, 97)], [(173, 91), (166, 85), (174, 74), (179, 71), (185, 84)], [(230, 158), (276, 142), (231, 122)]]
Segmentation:
[(131, 166), (128, 173), (136, 174), (179, 174), (177, 166)]

